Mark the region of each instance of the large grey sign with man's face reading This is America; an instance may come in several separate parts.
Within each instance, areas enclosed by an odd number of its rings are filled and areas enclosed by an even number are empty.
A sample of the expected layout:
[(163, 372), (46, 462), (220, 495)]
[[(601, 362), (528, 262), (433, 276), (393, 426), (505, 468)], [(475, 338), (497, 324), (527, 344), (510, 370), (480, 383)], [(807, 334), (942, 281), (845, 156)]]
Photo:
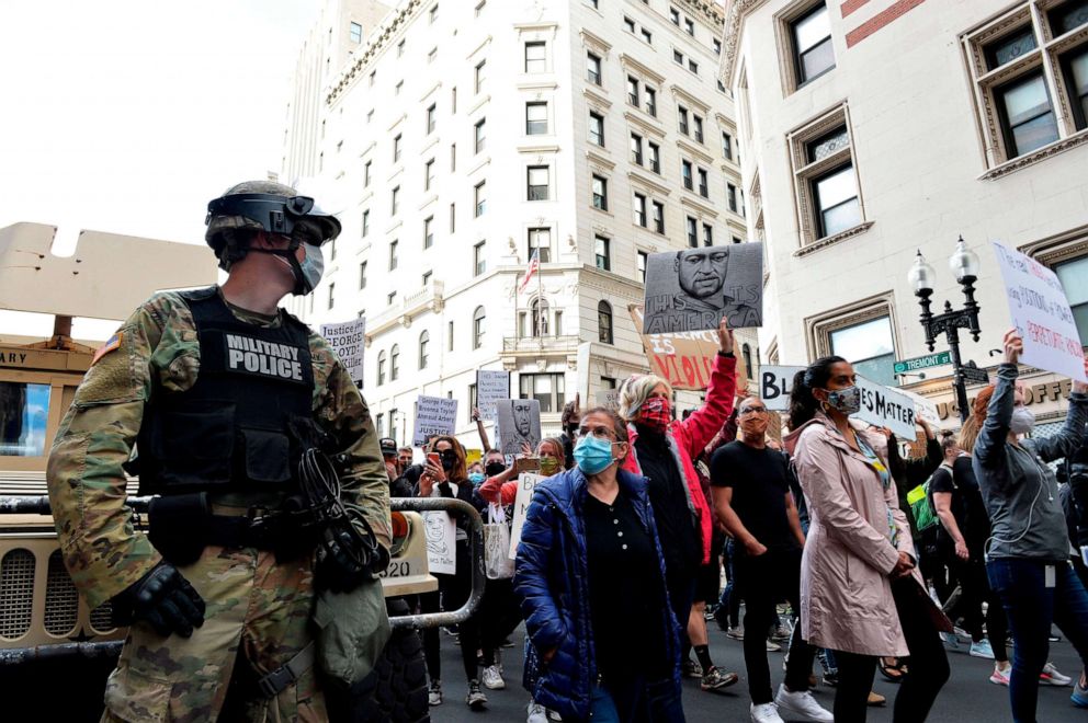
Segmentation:
[(763, 244), (650, 254), (644, 313), (644, 334), (762, 325)]

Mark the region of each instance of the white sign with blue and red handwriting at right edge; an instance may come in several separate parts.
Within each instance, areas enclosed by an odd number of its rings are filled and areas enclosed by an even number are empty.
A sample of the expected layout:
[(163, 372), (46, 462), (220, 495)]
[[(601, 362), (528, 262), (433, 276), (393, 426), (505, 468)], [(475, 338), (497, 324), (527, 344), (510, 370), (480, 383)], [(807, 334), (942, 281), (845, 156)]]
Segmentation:
[(1057, 275), (1031, 256), (996, 241), (994, 252), (1005, 280), (1012, 325), (1023, 337), (1021, 364), (1088, 381), (1077, 323)]

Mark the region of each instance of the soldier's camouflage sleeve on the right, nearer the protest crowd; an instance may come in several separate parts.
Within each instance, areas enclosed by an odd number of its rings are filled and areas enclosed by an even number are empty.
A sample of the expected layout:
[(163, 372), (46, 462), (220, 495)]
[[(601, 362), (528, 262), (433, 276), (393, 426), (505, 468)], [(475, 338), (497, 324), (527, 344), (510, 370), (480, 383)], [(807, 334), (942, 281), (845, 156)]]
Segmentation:
[(316, 381), (314, 415), (337, 440), (345, 460), (340, 466), (341, 496), (362, 512), (378, 542), (388, 549), (393, 544), (389, 475), (371, 412), (328, 342), (311, 334), (310, 351)]

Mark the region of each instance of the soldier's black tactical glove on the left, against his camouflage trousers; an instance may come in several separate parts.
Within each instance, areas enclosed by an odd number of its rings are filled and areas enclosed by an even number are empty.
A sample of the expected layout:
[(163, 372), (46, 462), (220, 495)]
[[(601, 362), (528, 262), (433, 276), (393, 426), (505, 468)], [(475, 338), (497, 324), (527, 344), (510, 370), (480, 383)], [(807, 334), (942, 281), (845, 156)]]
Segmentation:
[(160, 635), (193, 634), (204, 624), (204, 600), (178, 569), (161, 562), (113, 600), (128, 622), (145, 620)]

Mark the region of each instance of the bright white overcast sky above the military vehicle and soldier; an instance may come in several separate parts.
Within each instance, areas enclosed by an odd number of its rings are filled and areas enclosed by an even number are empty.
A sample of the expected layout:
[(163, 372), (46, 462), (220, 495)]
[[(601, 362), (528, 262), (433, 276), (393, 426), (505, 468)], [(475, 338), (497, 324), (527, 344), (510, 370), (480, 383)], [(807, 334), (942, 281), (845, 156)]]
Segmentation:
[(0, 5), (0, 227), (202, 241), (208, 199), (279, 170), (317, 0)]

